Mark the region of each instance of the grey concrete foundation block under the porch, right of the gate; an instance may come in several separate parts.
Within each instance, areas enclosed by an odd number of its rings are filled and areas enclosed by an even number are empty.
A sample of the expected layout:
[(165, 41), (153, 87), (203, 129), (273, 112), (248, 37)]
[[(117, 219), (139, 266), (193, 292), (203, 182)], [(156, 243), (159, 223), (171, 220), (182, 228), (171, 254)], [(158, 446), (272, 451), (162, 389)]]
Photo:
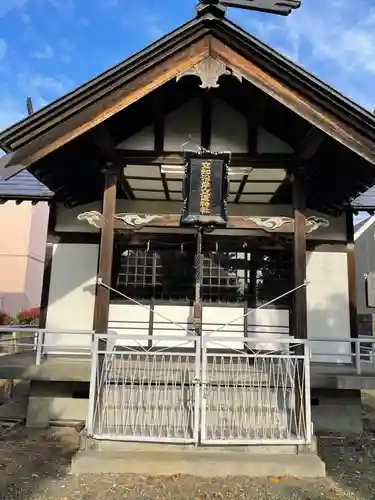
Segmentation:
[(363, 432), (360, 391), (313, 389), (311, 415), (316, 434), (338, 436)]

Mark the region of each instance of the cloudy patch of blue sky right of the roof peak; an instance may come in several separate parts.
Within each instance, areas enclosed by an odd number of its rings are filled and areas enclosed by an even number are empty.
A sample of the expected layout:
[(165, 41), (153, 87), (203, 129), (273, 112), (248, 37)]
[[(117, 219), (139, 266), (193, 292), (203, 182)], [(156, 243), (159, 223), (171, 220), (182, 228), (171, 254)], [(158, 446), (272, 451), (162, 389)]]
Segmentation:
[(287, 18), (232, 11), (250, 33), (365, 107), (375, 107), (370, 0), (304, 0)]

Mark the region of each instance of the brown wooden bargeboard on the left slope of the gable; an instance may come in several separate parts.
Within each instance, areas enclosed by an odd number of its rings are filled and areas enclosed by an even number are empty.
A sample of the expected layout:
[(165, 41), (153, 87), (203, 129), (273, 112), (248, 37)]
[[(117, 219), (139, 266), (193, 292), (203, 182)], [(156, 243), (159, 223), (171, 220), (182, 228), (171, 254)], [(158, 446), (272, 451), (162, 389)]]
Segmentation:
[(0, 161), (0, 169), (2, 167), (5, 170), (10, 167), (19, 168), (19, 171), (25, 169), (100, 125), (208, 57), (209, 44), (209, 38), (205, 37), (179, 50), (175, 55), (135, 77), (127, 85), (120, 86), (117, 90), (82, 109), (78, 114), (58, 123), (40, 137), (21, 146), (16, 152), (4, 156)]

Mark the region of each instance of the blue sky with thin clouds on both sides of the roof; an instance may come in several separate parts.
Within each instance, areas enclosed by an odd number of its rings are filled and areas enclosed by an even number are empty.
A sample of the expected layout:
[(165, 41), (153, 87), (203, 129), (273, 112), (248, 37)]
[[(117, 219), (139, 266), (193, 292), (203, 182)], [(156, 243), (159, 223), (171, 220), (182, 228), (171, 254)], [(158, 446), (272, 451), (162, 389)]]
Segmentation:
[[(375, 5), (302, 0), (284, 18), (229, 17), (368, 109), (375, 108)], [(194, 0), (0, 0), (0, 129), (125, 59), (194, 14)]]

